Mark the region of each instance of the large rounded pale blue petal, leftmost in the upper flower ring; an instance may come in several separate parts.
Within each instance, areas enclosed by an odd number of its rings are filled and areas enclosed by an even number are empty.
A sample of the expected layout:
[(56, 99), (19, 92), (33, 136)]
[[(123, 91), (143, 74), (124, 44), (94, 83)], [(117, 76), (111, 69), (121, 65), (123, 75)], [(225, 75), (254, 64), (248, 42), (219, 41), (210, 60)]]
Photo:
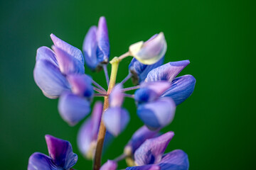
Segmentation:
[(36, 62), (33, 77), (48, 98), (57, 98), (63, 91), (70, 89), (67, 79), (60, 73), (60, 69), (48, 60)]

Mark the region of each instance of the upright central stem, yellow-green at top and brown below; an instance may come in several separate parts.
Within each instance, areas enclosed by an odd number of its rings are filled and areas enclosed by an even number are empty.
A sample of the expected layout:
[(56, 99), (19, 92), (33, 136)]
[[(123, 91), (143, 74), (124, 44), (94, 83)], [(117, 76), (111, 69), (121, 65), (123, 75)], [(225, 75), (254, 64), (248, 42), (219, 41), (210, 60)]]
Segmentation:
[[(107, 89), (107, 95), (110, 94), (112, 91), (116, 79), (117, 79), (117, 69), (119, 65), (120, 60), (118, 57), (114, 57), (113, 60), (110, 61), (110, 64), (112, 64), (112, 69), (111, 69), (111, 75), (110, 75), (110, 84)], [(103, 106), (103, 113), (104, 111), (109, 108), (109, 97), (105, 96), (104, 97), (104, 106)], [(102, 113), (102, 115), (103, 115)], [(102, 157), (102, 149), (103, 149), (103, 143), (106, 135), (106, 127), (103, 123), (103, 121), (100, 121), (100, 129), (99, 129), (99, 134), (97, 137), (97, 145), (96, 145), (96, 150), (95, 150), (95, 159), (94, 159), (94, 164), (93, 164), (93, 169), (94, 170), (99, 170), (100, 165), (101, 165), (101, 157)]]

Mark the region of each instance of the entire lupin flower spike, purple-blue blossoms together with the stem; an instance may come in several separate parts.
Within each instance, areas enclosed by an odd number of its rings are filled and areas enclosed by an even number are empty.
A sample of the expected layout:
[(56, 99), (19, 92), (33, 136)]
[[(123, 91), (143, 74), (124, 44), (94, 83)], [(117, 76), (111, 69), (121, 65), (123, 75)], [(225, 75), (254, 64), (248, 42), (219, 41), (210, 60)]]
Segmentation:
[[(129, 46), (128, 52), (109, 61), (110, 42), (107, 22), (101, 17), (98, 26), (88, 30), (82, 51), (51, 34), (52, 49), (39, 47), (33, 72), (36, 84), (48, 98), (60, 98), (58, 111), (68, 125), (76, 125), (90, 113), (78, 132), (78, 149), (87, 159), (94, 159), (93, 169), (117, 169), (126, 159), (129, 169), (188, 169), (188, 156), (182, 150), (164, 154), (174, 132), (161, 135), (160, 130), (174, 119), (176, 106), (193, 93), (196, 79), (191, 75), (176, 77), (190, 62), (164, 63), (167, 50), (164, 33), (153, 35), (146, 42)], [(117, 84), (119, 62), (132, 56), (127, 77)], [(107, 90), (85, 74), (84, 64), (92, 71), (105, 72)], [(111, 64), (111, 74), (107, 66)], [(124, 88), (132, 79), (134, 86)], [(136, 91), (134, 91), (136, 90)], [(134, 91), (134, 94), (126, 94)], [(110, 145), (129, 123), (129, 112), (122, 107), (124, 98), (134, 98), (137, 115), (144, 123), (124, 147), (124, 154), (101, 166), (102, 149)], [(72, 169), (78, 160), (70, 142), (46, 135), (49, 156), (31, 155), (28, 170)], [(101, 167), (100, 167), (101, 166)]]

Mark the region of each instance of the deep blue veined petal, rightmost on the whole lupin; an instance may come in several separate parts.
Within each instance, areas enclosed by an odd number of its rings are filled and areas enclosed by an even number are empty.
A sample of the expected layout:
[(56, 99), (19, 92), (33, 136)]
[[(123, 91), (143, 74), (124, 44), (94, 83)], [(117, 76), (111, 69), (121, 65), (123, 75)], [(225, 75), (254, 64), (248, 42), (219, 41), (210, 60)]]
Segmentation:
[(171, 82), (171, 88), (166, 90), (163, 97), (171, 97), (176, 106), (185, 101), (195, 89), (196, 79), (191, 75), (178, 77)]

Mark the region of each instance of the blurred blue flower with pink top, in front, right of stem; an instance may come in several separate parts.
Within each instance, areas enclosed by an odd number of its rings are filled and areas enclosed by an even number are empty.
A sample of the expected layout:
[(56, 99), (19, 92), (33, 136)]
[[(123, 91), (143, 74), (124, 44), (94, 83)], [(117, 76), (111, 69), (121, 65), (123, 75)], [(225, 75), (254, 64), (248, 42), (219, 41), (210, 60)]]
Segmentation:
[(144, 82), (134, 94), (137, 115), (151, 130), (163, 128), (174, 119), (176, 105), (171, 98), (161, 97), (171, 84), (168, 81)]

